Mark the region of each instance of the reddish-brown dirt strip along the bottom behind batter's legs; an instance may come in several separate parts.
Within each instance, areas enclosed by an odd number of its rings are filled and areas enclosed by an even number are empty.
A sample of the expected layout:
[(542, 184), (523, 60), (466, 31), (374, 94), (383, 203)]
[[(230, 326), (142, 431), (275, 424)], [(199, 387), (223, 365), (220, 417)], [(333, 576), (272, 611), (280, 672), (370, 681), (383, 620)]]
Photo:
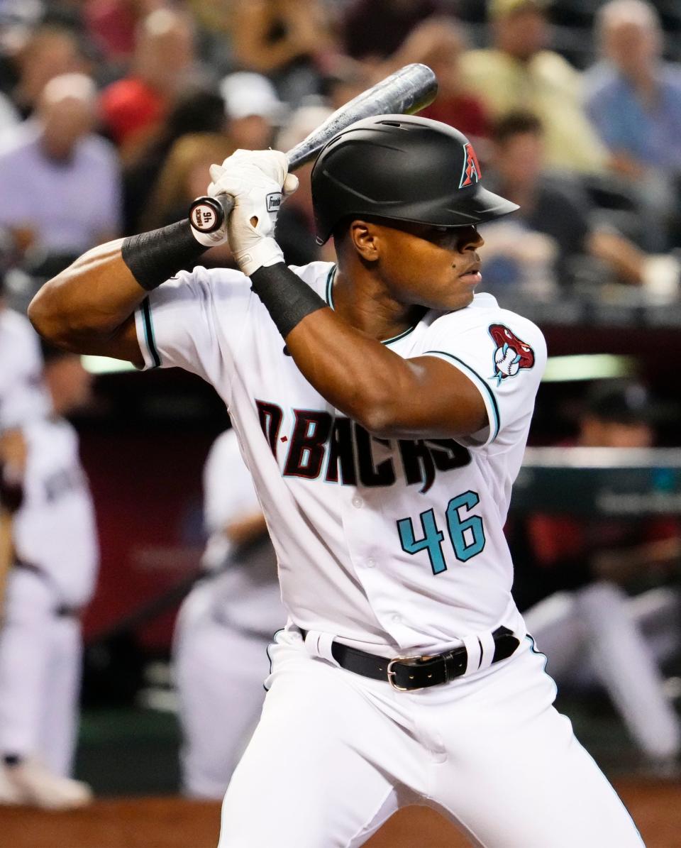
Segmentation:
[[(681, 784), (623, 780), (616, 785), (647, 848), (681, 845)], [(181, 798), (97, 801), (87, 810), (70, 813), (5, 808), (0, 810), (0, 846), (215, 848), (219, 824), (219, 805)], [(410, 807), (390, 819), (367, 845), (466, 848), (469, 843), (436, 813)]]

